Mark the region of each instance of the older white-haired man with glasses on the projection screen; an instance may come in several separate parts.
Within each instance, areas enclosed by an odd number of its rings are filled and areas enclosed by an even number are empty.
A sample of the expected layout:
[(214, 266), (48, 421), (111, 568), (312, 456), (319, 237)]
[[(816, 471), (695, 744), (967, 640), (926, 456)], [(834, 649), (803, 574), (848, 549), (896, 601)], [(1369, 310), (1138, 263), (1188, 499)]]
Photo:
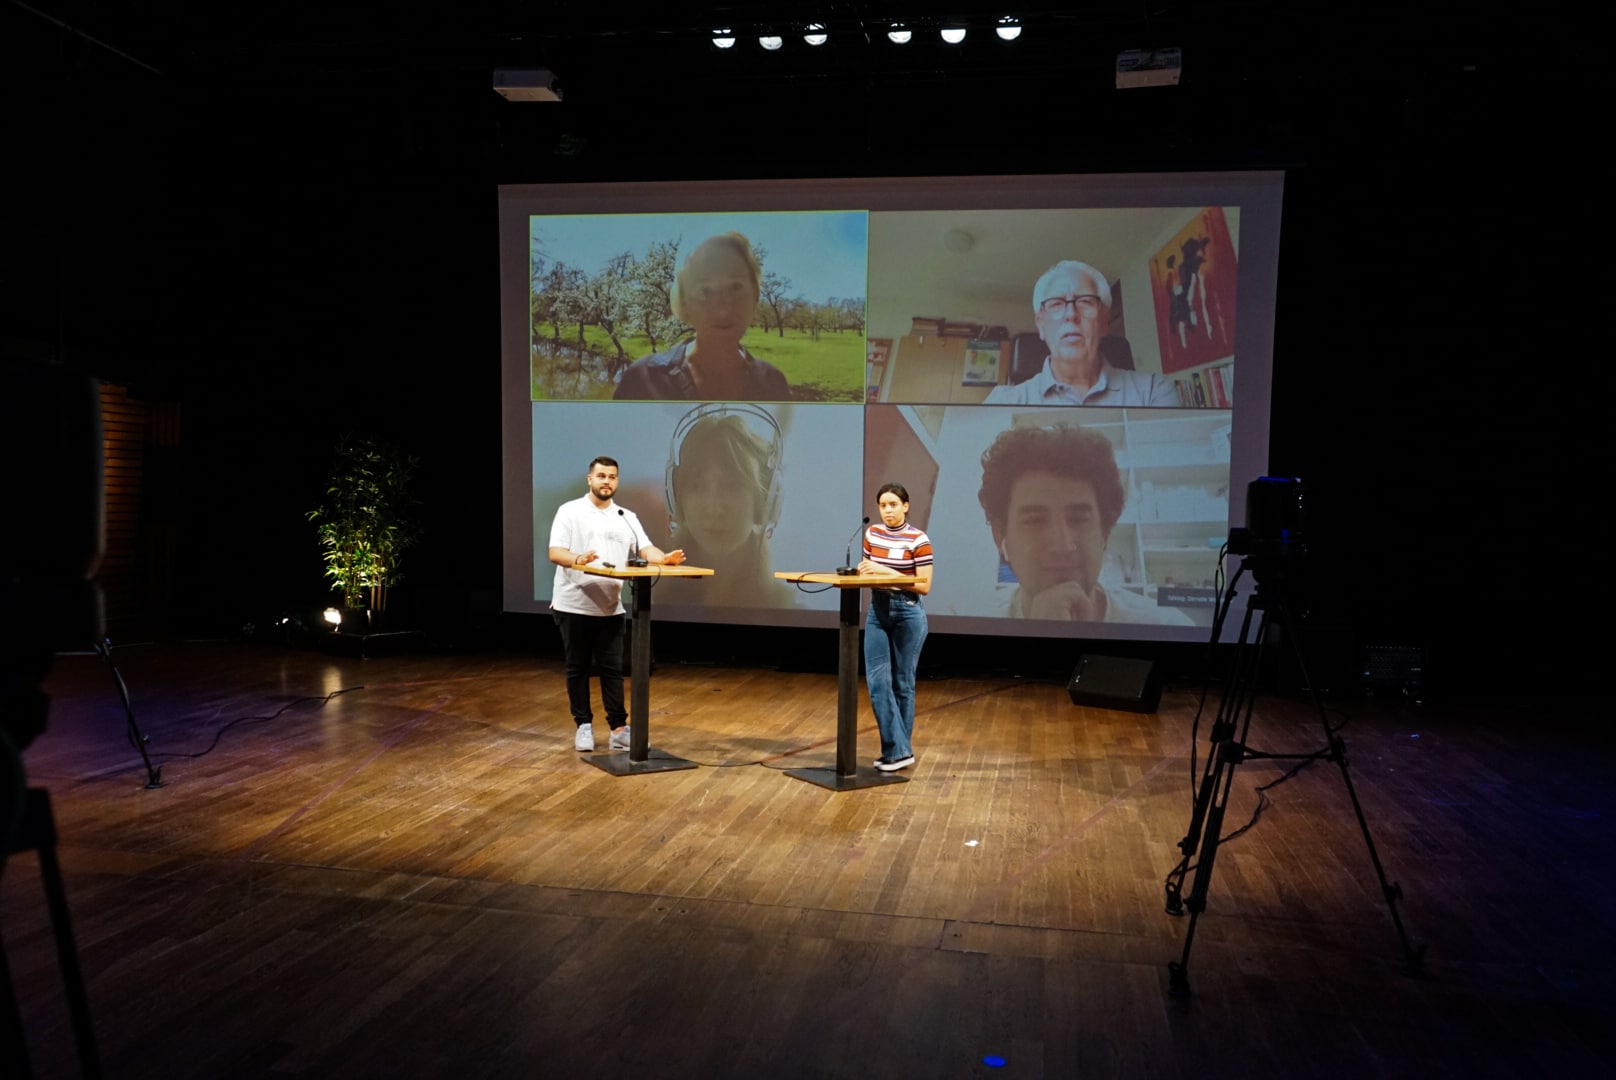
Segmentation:
[(1110, 285), (1086, 262), (1068, 259), (1044, 272), (1033, 286), (1033, 322), (1049, 348), (1044, 369), (1013, 386), (994, 386), (983, 404), (1178, 407), (1170, 378), (1105, 359)]

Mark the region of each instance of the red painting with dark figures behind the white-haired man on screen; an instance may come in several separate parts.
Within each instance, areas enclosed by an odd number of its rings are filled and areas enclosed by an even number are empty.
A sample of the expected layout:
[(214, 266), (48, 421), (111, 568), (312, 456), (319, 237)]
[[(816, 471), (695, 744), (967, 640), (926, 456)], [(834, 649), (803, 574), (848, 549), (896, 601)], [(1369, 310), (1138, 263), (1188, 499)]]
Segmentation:
[(1223, 207), (1207, 207), (1151, 259), (1162, 370), (1235, 356), (1235, 244)]

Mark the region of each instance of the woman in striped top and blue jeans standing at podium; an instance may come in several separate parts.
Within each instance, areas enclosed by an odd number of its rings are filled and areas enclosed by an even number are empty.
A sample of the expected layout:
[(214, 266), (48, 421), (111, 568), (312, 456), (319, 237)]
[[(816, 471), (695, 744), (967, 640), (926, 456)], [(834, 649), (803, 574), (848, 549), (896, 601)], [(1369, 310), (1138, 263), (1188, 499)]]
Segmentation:
[(908, 490), (882, 483), (876, 495), (881, 524), (865, 530), (865, 558), (860, 574), (903, 574), (911, 582), (869, 590), (869, 621), (865, 624), (865, 679), (869, 707), (881, 728), (881, 757), (876, 768), (892, 773), (915, 763), (915, 669), (920, 647), (926, 643), (926, 608), (921, 595), (931, 592), (931, 538), (908, 524)]

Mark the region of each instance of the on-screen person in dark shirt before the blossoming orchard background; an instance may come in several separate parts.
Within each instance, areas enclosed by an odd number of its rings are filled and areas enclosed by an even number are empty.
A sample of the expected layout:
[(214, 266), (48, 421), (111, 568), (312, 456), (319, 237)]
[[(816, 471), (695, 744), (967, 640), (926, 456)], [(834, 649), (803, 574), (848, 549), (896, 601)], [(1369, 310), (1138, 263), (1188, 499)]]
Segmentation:
[(760, 361), (740, 338), (758, 315), (763, 267), (751, 241), (721, 233), (696, 244), (674, 275), (674, 317), (695, 331), (622, 373), (619, 401), (790, 401), (781, 369)]

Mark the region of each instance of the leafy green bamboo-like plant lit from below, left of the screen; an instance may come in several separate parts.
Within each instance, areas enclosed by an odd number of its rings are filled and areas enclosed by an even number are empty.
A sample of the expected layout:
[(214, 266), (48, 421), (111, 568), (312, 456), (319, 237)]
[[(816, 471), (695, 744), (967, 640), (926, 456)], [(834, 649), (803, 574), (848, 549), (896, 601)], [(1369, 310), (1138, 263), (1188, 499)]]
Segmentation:
[(344, 435), (336, 440), (325, 501), (309, 511), (325, 576), (343, 593), (343, 629), (378, 629), (388, 590), (404, 576), (404, 553), (420, 537), (410, 516), (410, 480), (419, 461), (391, 443)]

